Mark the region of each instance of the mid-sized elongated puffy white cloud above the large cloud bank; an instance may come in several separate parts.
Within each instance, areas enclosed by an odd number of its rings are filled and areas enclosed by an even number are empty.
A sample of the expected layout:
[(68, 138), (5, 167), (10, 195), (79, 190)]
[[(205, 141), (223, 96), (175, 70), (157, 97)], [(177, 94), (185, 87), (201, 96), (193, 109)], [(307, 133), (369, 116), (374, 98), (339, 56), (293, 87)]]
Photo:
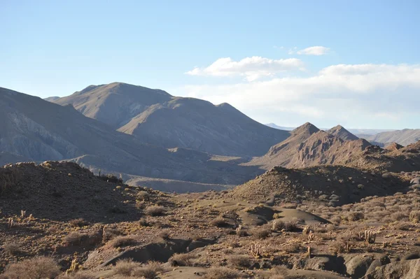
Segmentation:
[(302, 71), (303, 69), (303, 62), (296, 58), (276, 60), (253, 56), (236, 62), (230, 57), (226, 57), (217, 59), (206, 68), (195, 67), (186, 74), (191, 76), (244, 76), (246, 80), (253, 81), (264, 76), (272, 77), (283, 71)]

